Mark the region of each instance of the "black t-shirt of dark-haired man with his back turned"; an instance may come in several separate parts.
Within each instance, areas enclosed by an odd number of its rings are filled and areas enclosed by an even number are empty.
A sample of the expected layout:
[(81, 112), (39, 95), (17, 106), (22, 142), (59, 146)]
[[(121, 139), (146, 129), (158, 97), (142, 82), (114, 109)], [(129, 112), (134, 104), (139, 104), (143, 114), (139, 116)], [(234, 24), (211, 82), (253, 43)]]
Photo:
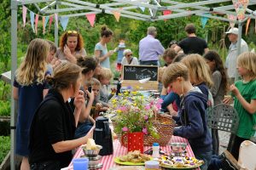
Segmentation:
[(207, 42), (200, 37), (186, 37), (177, 45), (183, 48), (184, 54), (204, 54)]

